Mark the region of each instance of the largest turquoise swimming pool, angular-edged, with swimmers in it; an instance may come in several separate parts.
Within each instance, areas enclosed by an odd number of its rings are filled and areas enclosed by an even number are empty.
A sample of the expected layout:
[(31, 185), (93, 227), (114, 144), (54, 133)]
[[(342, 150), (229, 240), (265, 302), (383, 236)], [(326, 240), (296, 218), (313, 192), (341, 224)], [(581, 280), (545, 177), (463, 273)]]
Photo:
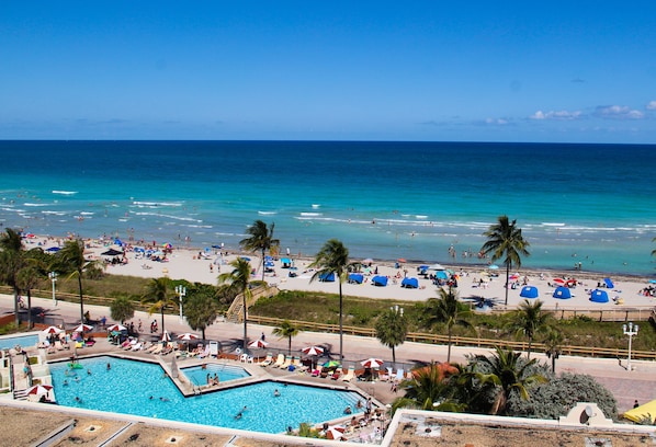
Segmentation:
[[(157, 364), (111, 356), (80, 363), (82, 368), (68, 376), (67, 362), (50, 364), (60, 405), (263, 433), (338, 419), (347, 405), (361, 412), (355, 404), (362, 397), (353, 391), (263, 381), (184, 398)], [(273, 396), (276, 389), (280, 397)], [(244, 406), (242, 417), (235, 419)]]

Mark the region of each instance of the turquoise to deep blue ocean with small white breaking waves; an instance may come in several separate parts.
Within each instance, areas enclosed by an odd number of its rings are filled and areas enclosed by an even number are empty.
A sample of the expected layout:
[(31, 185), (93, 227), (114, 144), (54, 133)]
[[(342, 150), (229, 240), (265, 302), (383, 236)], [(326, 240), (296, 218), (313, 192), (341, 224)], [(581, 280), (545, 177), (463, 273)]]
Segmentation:
[[(282, 251), (485, 263), (517, 219), (531, 268), (654, 274), (656, 146), (348, 141), (0, 141), (0, 224), (236, 250), (256, 219)], [(455, 257), (452, 257), (455, 254)]]

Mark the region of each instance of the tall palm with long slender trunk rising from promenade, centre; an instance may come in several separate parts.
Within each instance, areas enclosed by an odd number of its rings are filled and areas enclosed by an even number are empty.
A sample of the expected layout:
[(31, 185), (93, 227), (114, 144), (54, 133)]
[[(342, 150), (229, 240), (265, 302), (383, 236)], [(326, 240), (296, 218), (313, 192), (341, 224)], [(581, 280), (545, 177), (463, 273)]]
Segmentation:
[(349, 249), (337, 239), (328, 240), (315, 256), (309, 267), (316, 268), (309, 282), (320, 277), (335, 275), (339, 284), (339, 362), (343, 359), (343, 296), (341, 285), (348, 279), (349, 267), (358, 263), (349, 264)]

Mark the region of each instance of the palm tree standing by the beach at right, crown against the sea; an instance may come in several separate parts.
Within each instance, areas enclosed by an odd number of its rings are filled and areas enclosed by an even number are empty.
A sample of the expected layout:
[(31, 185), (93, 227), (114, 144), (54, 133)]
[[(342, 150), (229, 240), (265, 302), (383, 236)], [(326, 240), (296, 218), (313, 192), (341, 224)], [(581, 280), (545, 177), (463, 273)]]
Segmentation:
[(531, 253), (527, 250), (529, 242), (522, 237), (521, 229), (517, 227), (517, 220), (510, 222), (508, 216), (499, 216), (498, 222), (491, 225), (483, 233), (487, 242), (483, 244), (480, 251), (485, 254), (491, 252), (491, 261), (495, 262), (504, 257), (506, 264), (506, 306), (508, 306), (508, 277), (510, 267), (517, 265), (521, 267), (521, 256), (529, 256)]

